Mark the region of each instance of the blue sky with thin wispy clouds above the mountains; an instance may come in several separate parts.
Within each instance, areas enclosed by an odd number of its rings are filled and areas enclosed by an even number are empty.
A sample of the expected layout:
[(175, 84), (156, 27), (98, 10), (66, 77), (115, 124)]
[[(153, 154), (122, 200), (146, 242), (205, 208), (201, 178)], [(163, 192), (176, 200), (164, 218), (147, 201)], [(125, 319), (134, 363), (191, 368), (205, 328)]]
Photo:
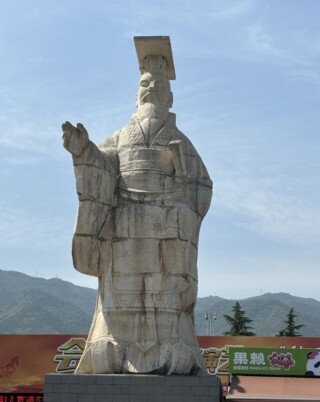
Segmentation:
[(75, 271), (61, 124), (100, 143), (135, 111), (135, 35), (170, 35), (177, 125), (214, 182), (199, 296), (320, 300), (320, 2), (10, 0), (0, 4), (0, 269)]

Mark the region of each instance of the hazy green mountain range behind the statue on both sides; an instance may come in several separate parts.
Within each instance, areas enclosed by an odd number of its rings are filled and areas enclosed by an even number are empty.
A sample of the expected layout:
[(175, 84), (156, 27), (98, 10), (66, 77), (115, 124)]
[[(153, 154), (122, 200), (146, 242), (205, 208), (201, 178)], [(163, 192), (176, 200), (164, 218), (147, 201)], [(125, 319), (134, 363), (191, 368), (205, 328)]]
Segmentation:
[[(1, 334), (87, 334), (97, 297), (94, 289), (58, 278), (43, 279), (18, 271), (0, 270)], [(232, 315), (236, 300), (218, 296), (198, 298), (197, 335), (223, 335), (229, 330), (224, 314)], [(285, 327), (291, 307), (303, 336), (320, 336), (320, 302), (288, 293), (266, 293), (238, 300), (258, 336), (275, 336)]]

